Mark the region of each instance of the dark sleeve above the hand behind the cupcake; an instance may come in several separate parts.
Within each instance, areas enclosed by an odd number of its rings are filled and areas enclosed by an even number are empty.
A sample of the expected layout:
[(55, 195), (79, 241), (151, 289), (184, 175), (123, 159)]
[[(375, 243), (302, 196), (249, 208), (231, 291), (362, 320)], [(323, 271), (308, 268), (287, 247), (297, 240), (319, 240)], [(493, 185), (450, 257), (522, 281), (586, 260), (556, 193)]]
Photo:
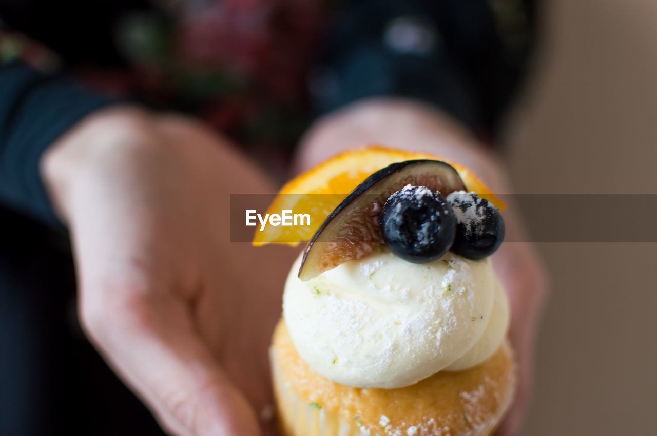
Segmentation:
[[(495, 138), (531, 66), (533, 3), (489, 0), (338, 2), (309, 77), (325, 113), (361, 98), (403, 96)], [(508, 5), (507, 3), (512, 3)]]

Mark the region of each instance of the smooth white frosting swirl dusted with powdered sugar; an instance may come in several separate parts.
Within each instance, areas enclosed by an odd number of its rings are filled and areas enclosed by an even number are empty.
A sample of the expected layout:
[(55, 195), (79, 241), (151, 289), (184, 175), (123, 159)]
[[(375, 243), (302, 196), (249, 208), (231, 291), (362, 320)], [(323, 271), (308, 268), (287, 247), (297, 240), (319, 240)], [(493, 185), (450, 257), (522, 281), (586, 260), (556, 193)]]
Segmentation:
[(302, 359), (340, 384), (402, 387), (486, 360), (509, 323), (489, 259), (445, 254), (411, 264), (390, 252), (351, 260), (303, 282), (298, 258), (283, 315)]

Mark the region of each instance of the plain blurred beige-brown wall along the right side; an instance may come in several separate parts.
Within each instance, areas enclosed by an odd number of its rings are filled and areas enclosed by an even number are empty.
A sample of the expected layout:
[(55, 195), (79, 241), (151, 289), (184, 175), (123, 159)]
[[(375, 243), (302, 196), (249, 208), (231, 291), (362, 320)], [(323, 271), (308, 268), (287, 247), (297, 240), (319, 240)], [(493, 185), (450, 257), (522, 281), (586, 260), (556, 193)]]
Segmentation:
[[(535, 75), (505, 129), (516, 191), (657, 193), (657, 3), (555, 0), (544, 12)], [(539, 249), (552, 293), (523, 434), (654, 434), (657, 245)]]

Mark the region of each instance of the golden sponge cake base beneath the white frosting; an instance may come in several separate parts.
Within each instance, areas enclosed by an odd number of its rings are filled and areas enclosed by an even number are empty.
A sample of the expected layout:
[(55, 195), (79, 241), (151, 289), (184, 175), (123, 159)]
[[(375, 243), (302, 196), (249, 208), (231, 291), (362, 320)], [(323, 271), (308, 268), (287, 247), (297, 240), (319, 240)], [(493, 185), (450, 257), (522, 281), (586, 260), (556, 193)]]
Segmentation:
[(506, 342), (477, 367), (441, 371), (397, 389), (344, 386), (313, 372), (283, 320), (270, 353), (283, 436), (486, 436), (514, 393), (514, 361)]

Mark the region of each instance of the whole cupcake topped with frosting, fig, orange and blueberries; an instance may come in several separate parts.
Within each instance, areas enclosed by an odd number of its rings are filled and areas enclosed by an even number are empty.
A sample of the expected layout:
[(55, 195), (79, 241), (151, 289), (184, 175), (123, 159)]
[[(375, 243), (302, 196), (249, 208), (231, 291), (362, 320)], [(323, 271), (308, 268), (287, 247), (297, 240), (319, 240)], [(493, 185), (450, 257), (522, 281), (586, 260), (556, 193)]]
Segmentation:
[(509, 308), (489, 260), (501, 203), (464, 168), (426, 157), (355, 151), (286, 187), (309, 194), (317, 174), (336, 183), (350, 165), (380, 168), (348, 173), (357, 185), (286, 280), (271, 346), (283, 435), (489, 435), (505, 414)]

